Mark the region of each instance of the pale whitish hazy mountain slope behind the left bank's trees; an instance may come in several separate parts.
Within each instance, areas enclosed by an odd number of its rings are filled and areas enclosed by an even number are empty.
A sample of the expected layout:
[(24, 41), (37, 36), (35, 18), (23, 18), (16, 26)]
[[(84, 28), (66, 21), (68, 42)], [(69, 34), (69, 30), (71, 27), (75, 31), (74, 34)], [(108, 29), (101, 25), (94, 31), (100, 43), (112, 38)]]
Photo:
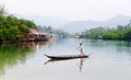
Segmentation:
[(51, 15), (48, 15), (48, 16), (45, 16), (45, 15), (21, 15), (21, 14), (14, 14), (14, 15), (17, 18), (32, 20), (37, 25), (41, 25), (41, 26), (58, 27), (58, 26), (64, 25), (70, 22), (69, 20), (67, 20), (64, 18), (51, 16)]

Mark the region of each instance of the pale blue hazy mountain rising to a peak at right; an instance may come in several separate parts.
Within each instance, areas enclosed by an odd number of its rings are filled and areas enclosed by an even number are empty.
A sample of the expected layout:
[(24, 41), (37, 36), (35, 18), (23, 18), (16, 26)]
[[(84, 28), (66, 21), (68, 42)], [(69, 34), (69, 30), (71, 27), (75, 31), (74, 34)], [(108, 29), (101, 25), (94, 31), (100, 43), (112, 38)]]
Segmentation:
[(79, 33), (85, 30), (95, 27), (117, 27), (118, 25), (127, 25), (131, 20), (131, 16), (117, 14), (114, 18), (106, 21), (74, 21), (61, 26), (62, 30), (70, 33)]

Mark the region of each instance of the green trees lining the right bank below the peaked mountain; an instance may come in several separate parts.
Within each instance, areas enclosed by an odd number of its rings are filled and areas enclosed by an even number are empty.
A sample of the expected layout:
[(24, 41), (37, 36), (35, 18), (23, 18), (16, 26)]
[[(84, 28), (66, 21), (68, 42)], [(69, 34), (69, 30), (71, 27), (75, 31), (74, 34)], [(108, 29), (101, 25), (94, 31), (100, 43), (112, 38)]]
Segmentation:
[(117, 28), (104, 28), (97, 27), (87, 30), (80, 34), (81, 38), (91, 38), (91, 39), (131, 39), (131, 25), (126, 26), (118, 25)]

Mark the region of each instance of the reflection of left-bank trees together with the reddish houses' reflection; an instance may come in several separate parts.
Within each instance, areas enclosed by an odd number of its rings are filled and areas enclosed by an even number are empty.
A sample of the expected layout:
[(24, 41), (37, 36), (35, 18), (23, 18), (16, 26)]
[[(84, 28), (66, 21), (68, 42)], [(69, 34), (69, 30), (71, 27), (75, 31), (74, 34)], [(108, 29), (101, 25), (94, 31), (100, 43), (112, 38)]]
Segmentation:
[(19, 64), (25, 64), (41, 45), (46, 45), (46, 43), (0, 45), (0, 76), (4, 75), (7, 69), (13, 68)]

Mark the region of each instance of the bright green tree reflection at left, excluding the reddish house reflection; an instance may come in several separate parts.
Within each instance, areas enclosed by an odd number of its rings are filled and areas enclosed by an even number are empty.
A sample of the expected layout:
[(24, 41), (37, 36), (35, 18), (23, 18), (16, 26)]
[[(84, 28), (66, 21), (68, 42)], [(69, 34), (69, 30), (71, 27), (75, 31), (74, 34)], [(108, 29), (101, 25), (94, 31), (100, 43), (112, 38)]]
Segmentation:
[(22, 45), (3, 44), (0, 45), (0, 76), (5, 69), (24, 64), (31, 55), (32, 49)]

